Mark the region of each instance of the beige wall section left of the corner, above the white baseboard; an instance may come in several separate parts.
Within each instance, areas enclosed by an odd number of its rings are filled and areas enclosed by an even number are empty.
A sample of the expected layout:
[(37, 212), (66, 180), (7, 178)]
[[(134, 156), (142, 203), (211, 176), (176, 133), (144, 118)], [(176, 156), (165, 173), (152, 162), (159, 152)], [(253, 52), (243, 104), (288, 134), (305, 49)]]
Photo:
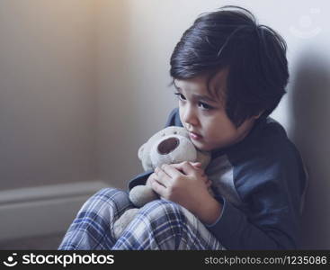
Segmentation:
[(96, 177), (93, 0), (0, 1), (0, 190)]

